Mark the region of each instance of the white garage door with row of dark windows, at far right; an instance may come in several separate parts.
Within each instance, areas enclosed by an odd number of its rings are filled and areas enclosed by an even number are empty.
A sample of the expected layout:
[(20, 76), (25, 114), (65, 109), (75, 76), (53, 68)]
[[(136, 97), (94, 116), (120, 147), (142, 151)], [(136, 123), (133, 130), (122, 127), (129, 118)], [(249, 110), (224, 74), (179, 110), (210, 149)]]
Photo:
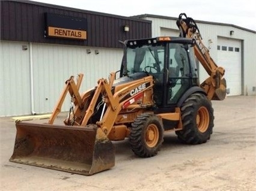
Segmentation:
[(229, 95), (241, 95), (241, 41), (218, 37), (218, 65), (225, 68)]

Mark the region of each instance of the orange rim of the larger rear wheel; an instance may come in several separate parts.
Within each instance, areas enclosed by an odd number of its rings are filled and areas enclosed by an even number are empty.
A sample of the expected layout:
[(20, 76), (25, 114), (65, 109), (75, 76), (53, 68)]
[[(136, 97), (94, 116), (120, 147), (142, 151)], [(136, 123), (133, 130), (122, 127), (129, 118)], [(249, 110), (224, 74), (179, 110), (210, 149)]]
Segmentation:
[(200, 107), (197, 111), (197, 128), (200, 132), (207, 131), (209, 126), (209, 112), (206, 107)]

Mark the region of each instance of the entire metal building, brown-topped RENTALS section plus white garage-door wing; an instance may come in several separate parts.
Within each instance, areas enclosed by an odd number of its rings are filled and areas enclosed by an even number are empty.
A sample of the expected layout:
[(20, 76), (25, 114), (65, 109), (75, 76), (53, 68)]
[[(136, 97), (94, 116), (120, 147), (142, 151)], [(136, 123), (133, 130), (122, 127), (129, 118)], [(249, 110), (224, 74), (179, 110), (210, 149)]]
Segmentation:
[[(178, 36), (176, 19), (1, 1), (0, 116), (51, 112), (70, 75), (84, 73), (81, 91), (96, 86), (99, 78), (120, 69), (120, 40)], [(197, 23), (211, 56), (226, 69), (230, 95), (255, 95), (255, 31)], [(203, 81), (207, 74), (201, 66), (199, 71)], [(68, 108), (67, 100), (63, 109)]]

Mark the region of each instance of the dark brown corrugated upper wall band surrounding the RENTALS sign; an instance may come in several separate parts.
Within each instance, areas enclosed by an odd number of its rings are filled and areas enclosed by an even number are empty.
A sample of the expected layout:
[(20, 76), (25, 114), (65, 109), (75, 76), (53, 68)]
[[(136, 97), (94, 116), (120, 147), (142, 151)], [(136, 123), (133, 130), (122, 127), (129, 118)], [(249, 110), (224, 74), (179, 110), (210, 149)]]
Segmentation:
[[(32, 1), (1, 1), (1, 40), (122, 48), (119, 40), (151, 37), (151, 21)], [(87, 40), (44, 38), (44, 13), (87, 19)], [(124, 32), (124, 25), (129, 32)]]

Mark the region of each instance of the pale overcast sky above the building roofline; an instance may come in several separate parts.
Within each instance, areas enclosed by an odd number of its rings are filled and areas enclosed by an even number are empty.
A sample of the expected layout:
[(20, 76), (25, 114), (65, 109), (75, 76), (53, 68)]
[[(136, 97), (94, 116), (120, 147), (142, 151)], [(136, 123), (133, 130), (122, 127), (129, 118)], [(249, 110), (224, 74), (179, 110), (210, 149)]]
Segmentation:
[(178, 17), (186, 13), (194, 20), (227, 23), (256, 31), (255, 0), (35, 0), (119, 16), (154, 14)]

